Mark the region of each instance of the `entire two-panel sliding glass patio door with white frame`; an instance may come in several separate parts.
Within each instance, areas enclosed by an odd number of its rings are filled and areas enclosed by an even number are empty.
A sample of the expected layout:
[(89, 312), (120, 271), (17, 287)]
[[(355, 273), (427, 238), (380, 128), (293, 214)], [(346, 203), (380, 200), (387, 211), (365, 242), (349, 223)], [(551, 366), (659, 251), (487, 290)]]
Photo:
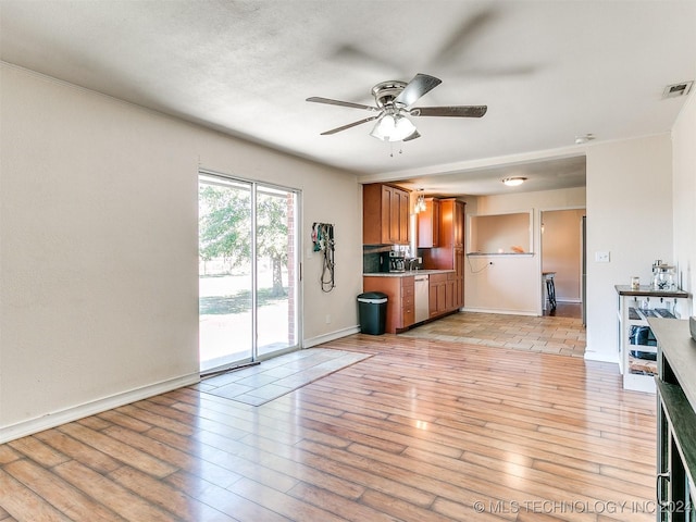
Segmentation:
[(298, 349), (299, 192), (201, 172), (198, 194), (201, 373)]

